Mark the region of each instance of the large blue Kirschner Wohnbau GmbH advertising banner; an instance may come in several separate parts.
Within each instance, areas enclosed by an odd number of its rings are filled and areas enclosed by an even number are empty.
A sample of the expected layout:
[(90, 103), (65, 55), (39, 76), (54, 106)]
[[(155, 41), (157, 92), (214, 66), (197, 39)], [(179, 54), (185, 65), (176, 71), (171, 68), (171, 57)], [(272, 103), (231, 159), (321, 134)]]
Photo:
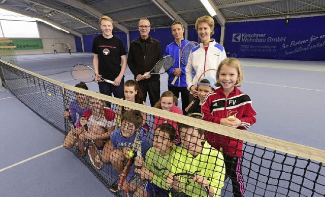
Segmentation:
[(228, 57), (325, 61), (325, 16), (226, 23)]

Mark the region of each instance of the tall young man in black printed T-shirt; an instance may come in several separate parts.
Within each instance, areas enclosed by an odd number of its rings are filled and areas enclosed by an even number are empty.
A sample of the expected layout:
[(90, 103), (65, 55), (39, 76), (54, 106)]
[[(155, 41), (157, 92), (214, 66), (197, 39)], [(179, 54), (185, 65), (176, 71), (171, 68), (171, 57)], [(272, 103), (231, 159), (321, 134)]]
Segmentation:
[[(114, 36), (113, 20), (108, 16), (100, 19), (102, 35), (96, 36), (92, 43), (93, 67), (100, 93), (123, 98), (124, 72), (126, 69), (126, 51), (120, 38)], [(122, 65), (120, 65), (122, 61)], [(114, 84), (101, 82), (101, 78), (114, 81)]]

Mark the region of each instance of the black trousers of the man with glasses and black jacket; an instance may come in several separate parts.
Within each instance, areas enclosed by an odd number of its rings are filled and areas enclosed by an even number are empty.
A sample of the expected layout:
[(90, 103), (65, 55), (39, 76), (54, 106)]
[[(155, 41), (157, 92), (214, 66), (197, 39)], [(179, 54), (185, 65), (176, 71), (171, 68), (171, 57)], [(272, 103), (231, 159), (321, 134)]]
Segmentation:
[(149, 94), (150, 104), (153, 107), (160, 98), (160, 80), (156, 81), (139, 81), (139, 86), (141, 88), (144, 102), (147, 100), (147, 94)]

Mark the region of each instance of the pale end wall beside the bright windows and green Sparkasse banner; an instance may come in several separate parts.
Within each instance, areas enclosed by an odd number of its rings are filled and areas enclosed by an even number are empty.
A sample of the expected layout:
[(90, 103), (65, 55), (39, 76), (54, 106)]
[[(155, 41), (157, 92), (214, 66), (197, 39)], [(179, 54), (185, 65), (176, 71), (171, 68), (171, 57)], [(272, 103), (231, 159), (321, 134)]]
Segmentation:
[(52, 45), (56, 46), (58, 53), (68, 53), (68, 48), (64, 49), (64, 47), (67, 47), (67, 43), (71, 46), (71, 52), (76, 52), (76, 42), (73, 34), (55, 29), (42, 22), (37, 22), (37, 25), (40, 38), (42, 39), (43, 49), (16, 50), (16, 55), (53, 53)]

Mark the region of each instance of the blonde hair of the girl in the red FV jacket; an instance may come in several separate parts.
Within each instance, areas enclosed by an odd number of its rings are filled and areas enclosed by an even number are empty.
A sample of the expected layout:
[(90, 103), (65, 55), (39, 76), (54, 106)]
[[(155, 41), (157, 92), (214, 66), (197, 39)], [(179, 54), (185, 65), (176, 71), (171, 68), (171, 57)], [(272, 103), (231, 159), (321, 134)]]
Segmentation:
[(221, 86), (220, 82), (219, 82), (219, 73), (220, 73), (222, 66), (230, 66), (237, 70), (239, 80), (236, 82), (235, 86), (239, 87), (243, 82), (243, 70), (242, 70), (242, 66), (241, 66), (240, 62), (238, 61), (238, 59), (233, 58), (233, 57), (226, 58), (220, 62), (219, 66), (218, 66), (218, 70), (217, 70), (217, 82), (216, 82), (215, 86), (217, 86), (217, 87)]

